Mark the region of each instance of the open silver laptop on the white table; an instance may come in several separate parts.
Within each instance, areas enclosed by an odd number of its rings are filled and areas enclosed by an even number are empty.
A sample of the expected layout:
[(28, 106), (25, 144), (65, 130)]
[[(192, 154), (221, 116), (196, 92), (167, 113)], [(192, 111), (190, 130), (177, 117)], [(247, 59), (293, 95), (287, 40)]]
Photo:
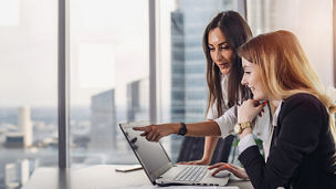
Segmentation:
[(130, 148), (153, 185), (225, 186), (230, 175), (211, 176), (208, 166), (174, 165), (160, 143), (148, 141), (143, 132), (133, 127), (149, 125), (146, 122), (119, 124)]

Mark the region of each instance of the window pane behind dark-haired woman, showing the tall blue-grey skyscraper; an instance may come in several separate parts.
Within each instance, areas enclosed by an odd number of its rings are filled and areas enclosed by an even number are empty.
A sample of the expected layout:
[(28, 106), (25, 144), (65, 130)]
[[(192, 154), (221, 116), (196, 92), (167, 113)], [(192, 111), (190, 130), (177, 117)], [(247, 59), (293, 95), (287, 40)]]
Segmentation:
[[(237, 0), (179, 0), (158, 3), (158, 63), (161, 123), (202, 122), (208, 86), (202, 35), (220, 11), (238, 10)], [(171, 159), (177, 160), (182, 137), (162, 139)]]

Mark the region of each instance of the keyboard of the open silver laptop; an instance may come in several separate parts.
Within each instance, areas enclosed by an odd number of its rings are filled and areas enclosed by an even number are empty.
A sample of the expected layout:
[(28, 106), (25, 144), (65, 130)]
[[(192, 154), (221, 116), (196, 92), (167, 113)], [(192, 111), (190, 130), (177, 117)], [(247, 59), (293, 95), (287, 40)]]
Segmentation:
[(176, 177), (177, 181), (200, 181), (207, 174), (207, 166), (187, 166)]

